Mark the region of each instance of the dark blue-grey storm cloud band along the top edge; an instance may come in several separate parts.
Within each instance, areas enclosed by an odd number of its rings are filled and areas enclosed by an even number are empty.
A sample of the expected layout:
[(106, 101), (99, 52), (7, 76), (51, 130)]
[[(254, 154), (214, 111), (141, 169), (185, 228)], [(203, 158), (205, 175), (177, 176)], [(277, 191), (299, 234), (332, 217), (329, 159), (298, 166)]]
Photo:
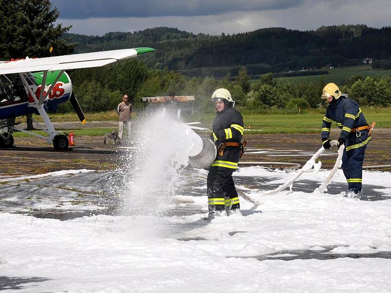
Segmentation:
[(61, 19), (207, 16), (287, 9), (304, 0), (52, 0)]

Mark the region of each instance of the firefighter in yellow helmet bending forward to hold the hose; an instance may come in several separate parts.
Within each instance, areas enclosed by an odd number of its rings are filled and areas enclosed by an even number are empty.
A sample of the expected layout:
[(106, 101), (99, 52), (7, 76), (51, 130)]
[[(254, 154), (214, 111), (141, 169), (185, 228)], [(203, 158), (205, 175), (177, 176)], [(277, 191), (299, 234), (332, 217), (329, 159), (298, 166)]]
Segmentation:
[(322, 142), (325, 149), (330, 145), (330, 127), (335, 122), (341, 133), (338, 148), (345, 145), (342, 156), (342, 169), (348, 182), (347, 196), (362, 197), (362, 167), (367, 144), (372, 139), (370, 133), (374, 124), (369, 126), (358, 104), (342, 94), (336, 84), (326, 84), (322, 99), (327, 99), (328, 106), (322, 125)]

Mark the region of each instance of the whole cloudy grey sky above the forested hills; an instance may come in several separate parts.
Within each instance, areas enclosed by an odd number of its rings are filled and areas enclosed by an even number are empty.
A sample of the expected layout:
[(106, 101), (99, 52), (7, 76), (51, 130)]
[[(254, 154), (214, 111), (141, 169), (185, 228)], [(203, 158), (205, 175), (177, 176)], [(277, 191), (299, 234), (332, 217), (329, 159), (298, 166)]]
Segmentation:
[(264, 27), (391, 25), (390, 0), (51, 0), (70, 32), (103, 35), (155, 26), (217, 35)]

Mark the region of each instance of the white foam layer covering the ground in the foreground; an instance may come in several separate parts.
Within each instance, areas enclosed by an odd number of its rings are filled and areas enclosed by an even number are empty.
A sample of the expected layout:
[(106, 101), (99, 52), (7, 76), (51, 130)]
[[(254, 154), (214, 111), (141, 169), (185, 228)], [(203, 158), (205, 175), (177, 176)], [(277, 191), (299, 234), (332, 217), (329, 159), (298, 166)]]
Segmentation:
[[(327, 175), (321, 170), (303, 176), (322, 181)], [(290, 174), (246, 167), (235, 176), (286, 179)], [(363, 178), (365, 184), (391, 186), (390, 172), (364, 171)], [(200, 200), (206, 214), (206, 196)], [(327, 246), (339, 246), (333, 253), (391, 251), (391, 200), (355, 201), (288, 190), (261, 200), (256, 210), (241, 200), (245, 216), (209, 224), (201, 219), (205, 214), (59, 221), (2, 213), (0, 272), (9, 278), (47, 278), (21, 284), (27, 293), (389, 292), (390, 259), (258, 261), (238, 256)], [(241, 233), (231, 236), (235, 231)], [(191, 237), (207, 240), (175, 239)]]

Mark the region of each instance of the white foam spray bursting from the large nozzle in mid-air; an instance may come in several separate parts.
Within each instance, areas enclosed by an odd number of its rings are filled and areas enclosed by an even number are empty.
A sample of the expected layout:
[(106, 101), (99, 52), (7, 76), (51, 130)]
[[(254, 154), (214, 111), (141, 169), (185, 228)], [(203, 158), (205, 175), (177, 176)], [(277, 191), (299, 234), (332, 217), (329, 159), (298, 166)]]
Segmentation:
[(202, 149), (194, 135), (189, 126), (162, 113), (132, 123), (130, 140), (139, 148), (124, 158), (127, 214), (160, 215), (168, 209), (180, 169)]

